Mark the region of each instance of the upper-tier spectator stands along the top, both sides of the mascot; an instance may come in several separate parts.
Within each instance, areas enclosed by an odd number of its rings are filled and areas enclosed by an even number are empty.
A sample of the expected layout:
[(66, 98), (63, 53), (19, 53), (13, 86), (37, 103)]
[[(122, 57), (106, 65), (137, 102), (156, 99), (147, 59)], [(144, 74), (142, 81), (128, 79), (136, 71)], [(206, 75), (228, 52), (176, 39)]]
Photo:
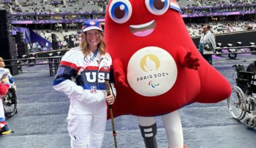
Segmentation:
[[(177, 0), (184, 7), (234, 6), (256, 3), (256, 0)], [(15, 12), (103, 12), (108, 0), (12, 0), (12, 3), (0, 1), (0, 9)]]

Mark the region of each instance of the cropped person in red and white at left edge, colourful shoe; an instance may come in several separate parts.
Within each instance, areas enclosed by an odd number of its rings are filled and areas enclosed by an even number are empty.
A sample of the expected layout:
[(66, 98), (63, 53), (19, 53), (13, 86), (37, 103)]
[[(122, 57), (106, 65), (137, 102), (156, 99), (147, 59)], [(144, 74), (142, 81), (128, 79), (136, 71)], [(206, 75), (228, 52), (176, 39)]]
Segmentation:
[(5, 112), (3, 109), (3, 102), (2, 97), (7, 94), (9, 90), (9, 79), (6, 77), (5, 79), (1, 80), (0, 83), (0, 135), (7, 135), (11, 133), (11, 130), (9, 129), (9, 126), (7, 125), (7, 122), (5, 122)]

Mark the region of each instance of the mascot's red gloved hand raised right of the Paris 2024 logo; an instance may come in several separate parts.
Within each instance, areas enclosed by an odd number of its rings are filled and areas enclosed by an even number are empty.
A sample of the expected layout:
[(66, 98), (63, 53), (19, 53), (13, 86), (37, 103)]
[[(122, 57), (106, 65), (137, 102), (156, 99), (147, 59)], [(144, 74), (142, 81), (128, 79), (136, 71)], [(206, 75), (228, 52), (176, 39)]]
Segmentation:
[(191, 52), (187, 52), (183, 60), (183, 66), (196, 71), (199, 65), (199, 59), (193, 57)]

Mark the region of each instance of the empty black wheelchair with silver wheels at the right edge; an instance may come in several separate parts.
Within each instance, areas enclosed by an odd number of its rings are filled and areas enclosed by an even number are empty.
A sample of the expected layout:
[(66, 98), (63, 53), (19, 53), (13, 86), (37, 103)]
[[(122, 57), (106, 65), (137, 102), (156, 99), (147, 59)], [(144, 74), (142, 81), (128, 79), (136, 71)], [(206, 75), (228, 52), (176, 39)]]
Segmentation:
[(227, 99), (228, 110), (236, 120), (243, 120), (248, 128), (256, 127), (256, 85), (255, 72), (245, 71), (243, 65), (233, 65), (236, 71), (236, 85)]

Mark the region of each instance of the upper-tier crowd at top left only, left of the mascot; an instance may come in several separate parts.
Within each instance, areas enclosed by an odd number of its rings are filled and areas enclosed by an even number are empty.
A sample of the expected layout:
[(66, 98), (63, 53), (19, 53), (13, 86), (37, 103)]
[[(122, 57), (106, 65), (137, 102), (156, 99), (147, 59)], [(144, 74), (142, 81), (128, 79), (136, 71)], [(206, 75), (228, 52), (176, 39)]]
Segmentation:
[(98, 12), (104, 11), (97, 0), (13, 0), (0, 1), (0, 9), (10, 12), (52, 13), (52, 12)]

